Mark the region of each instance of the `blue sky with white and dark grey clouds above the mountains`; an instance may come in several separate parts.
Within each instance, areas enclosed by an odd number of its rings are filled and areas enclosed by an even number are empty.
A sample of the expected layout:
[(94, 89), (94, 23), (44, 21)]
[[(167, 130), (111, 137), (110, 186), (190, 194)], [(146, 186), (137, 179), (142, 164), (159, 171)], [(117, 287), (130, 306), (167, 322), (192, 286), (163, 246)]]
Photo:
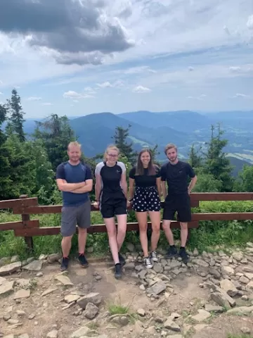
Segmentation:
[(64, 4), (0, 2), (0, 102), (27, 118), (252, 110), (252, 0)]

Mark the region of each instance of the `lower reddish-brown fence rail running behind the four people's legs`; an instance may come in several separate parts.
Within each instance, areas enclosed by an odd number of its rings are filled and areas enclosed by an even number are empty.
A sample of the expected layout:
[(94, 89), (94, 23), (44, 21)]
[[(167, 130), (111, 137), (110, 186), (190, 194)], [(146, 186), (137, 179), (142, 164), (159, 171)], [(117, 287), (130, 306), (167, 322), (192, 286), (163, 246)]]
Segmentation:
[[(161, 223), (162, 226), (162, 223)], [(190, 222), (189, 228), (197, 228), (198, 222)], [(179, 222), (173, 221), (172, 228), (179, 228), (180, 224)], [(148, 223), (148, 228), (151, 229), (151, 224)], [(126, 231), (138, 231), (138, 223), (128, 223)], [(78, 232), (78, 227), (77, 227)], [(98, 225), (92, 225), (88, 229), (89, 234), (93, 234), (96, 232), (106, 232), (106, 227), (104, 224), (98, 224)], [(14, 230), (15, 236), (18, 237), (25, 237), (25, 236), (46, 236), (46, 235), (52, 235), (52, 234), (59, 234), (60, 233), (60, 227), (39, 227), (34, 229), (16, 229)]]

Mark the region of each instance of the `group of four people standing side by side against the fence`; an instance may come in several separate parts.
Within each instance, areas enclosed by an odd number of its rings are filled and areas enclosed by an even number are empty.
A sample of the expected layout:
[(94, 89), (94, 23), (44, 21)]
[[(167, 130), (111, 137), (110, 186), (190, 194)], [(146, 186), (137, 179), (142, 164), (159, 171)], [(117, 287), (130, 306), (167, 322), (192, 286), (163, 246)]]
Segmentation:
[[(146, 268), (153, 268), (157, 259), (157, 243), (160, 239), (161, 198), (164, 198), (162, 228), (169, 242), (167, 258), (181, 256), (183, 262), (188, 262), (186, 240), (188, 237), (188, 222), (191, 220), (190, 192), (197, 177), (193, 168), (179, 161), (177, 148), (168, 144), (164, 153), (169, 159), (159, 168), (153, 163), (152, 153), (143, 149), (138, 154), (136, 165), (129, 172), (129, 189), (126, 181), (126, 167), (118, 161), (117, 146), (108, 146), (103, 161), (96, 165), (95, 193), (93, 204), (105, 222), (108, 232), (109, 246), (115, 263), (115, 277), (122, 277), (122, 265), (125, 260), (120, 249), (126, 235), (127, 209), (136, 213), (140, 230), (140, 240), (143, 249), (143, 263)], [(93, 189), (91, 169), (81, 161), (81, 145), (71, 142), (67, 148), (69, 161), (58, 165), (56, 181), (58, 189), (63, 192), (63, 208), (61, 234), (63, 261), (61, 270), (67, 270), (72, 236), (78, 225), (79, 263), (86, 268), (89, 263), (84, 255), (87, 229), (91, 226), (91, 202), (89, 192)], [(190, 177), (190, 184), (188, 178)], [(168, 185), (168, 191), (166, 187)], [(177, 212), (181, 225), (181, 247), (179, 253), (174, 246), (174, 236), (171, 232), (171, 220)], [(152, 224), (151, 250), (148, 253), (148, 215)], [(117, 218), (117, 227), (115, 225)]]

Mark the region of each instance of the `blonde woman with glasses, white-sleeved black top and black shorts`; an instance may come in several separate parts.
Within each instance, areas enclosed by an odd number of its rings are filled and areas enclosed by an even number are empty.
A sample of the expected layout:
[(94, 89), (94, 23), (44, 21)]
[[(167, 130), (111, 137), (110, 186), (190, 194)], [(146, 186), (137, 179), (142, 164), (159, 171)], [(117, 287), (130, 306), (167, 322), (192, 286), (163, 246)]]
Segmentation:
[[(103, 162), (96, 165), (94, 206), (100, 208), (105, 226), (112, 258), (115, 262), (115, 278), (122, 277), (122, 265), (125, 260), (119, 253), (126, 236), (127, 216), (127, 183), (126, 167), (124, 163), (118, 162), (119, 149), (117, 146), (108, 146), (105, 150)], [(117, 229), (115, 225), (117, 216)]]

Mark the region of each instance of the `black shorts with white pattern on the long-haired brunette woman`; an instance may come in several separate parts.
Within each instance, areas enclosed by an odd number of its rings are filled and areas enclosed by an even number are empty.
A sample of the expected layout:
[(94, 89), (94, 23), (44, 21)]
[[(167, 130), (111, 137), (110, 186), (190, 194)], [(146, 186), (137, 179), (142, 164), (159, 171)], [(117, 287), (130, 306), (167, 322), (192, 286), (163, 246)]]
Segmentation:
[(136, 187), (133, 209), (137, 213), (143, 211), (160, 211), (160, 198), (156, 187)]

